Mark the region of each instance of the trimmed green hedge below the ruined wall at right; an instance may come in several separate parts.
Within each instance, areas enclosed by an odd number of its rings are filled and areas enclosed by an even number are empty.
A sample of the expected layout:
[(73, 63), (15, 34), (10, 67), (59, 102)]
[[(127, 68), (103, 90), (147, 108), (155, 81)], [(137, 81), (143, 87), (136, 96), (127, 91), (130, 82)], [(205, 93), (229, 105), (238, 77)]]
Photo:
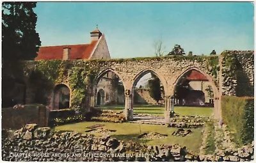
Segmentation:
[(254, 137), (254, 98), (223, 96), (221, 99), (223, 123), (241, 146), (252, 143)]

